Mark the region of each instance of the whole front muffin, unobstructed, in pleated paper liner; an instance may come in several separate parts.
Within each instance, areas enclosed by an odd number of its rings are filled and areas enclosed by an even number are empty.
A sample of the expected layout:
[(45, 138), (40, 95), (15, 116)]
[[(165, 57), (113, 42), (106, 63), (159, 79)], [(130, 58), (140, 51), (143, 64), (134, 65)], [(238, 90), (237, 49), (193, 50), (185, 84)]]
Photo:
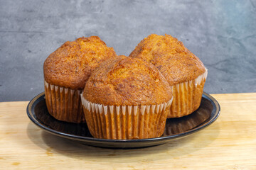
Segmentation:
[(119, 56), (92, 72), (81, 98), (93, 137), (132, 140), (163, 134), (172, 94), (154, 65)]

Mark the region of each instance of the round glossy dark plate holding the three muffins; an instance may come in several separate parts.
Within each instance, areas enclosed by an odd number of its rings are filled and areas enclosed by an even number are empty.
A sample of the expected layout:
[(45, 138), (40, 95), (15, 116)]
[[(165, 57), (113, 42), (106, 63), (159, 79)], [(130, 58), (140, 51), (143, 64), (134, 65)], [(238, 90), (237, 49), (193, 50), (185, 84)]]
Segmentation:
[(109, 148), (138, 148), (151, 147), (170, 142), (176, 138), (186, 137), (193, 132), (202, 130), (213, 123), (220, 114), (220, 105), (209, 94), (203, 92), (201, 106), (191, 115), (183, 118), (172, 118), (166, 120), (164, 135), (161, 137), (143, 140), (105, 140), (97, 139), (90, 135), (86, 123), (65, 123), (53, 118), (46, 108), (44, 92), (33, 98), (27, 107), (28, 117), (39, 128), (53, 135), (66, 137), (71, 140), (82, 142), (85, 145)]

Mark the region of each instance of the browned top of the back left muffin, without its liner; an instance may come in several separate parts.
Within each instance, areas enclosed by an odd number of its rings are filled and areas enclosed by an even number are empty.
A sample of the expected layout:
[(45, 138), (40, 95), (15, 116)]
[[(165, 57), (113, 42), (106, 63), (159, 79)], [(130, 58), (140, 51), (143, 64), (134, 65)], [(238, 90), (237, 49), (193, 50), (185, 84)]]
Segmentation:
[(116, 56), (114, 49), (97, 36), (68, 41), (44, 62), (44, 78), (49, 84), (83, 89), (92, 70), (103, 60)]

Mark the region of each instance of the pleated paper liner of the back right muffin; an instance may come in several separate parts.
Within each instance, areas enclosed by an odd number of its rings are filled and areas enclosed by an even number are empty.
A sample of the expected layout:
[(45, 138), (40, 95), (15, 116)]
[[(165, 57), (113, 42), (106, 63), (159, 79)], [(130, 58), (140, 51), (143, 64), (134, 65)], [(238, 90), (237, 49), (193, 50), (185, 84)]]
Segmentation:
[(203, 95), (203, 86), (208, 70), (191, 81), (185, 81), (173, 86), (174, 101), (171, 103), (170, 113), (167, 118), (179, 118), (196, 111), (200, 106)]

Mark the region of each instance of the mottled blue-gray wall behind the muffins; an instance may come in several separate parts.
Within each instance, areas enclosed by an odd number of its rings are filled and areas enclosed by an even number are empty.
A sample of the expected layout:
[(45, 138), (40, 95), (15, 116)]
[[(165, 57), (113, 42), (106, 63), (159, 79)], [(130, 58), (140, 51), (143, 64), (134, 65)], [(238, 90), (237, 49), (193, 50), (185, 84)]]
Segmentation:
[(129, 55), (151, 33), (181, 40), (208, 68), (210, 94), (256, 92), (256, 1), (2, 1), (0, 101), (43, 91), (43, 62), (65, 41), (98, 35)]

